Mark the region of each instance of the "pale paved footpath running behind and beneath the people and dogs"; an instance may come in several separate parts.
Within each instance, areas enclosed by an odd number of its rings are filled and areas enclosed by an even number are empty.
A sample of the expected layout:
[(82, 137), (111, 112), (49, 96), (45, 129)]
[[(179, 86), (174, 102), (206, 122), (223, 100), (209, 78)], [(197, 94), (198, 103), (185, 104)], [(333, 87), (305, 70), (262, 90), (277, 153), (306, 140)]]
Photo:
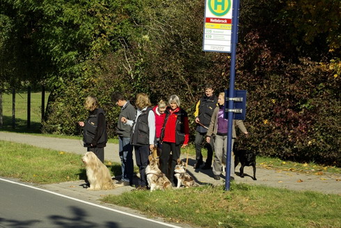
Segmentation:
[[(64, 152), (72, 152), (77, 154), (84, 154), (86, 149), (83, 147), (81, 138), (79, 140), (63, 139), (63, 138), (51, 138), (43, 136), (31, 136), (23, 133), (8, 133), (0, 131), (0, 140), (19, 142), (36, 147), (43, 147), (48, 149), (54, 149)], [(186, 149), (182, 151), (182, 158), (186, 159)], [(118, 145), (109, 143), (104, 149), (104, 158), (107, 161), (113, 161), (120, 163), (118, 156)], [(189, 158), (188, 172), (194, 179), (200, 184), (223, 184), (223, 179), (216, 181), (213, 179), (212, 170), (194, 170), (193, 164), (195, 159)], [(236, 168), (236, 171), (239, 167)], [(338, 194), (341, 195), (341, 174), (306, 174), (302, 172), (291, 172), (283, 170), (267, 170), (260, 166), (257, 166), (257, 181), (248, 176), (252, 175), (252, 168), (246, 167), (244, 169), (246, 174), (245, 178), (240, 178), (236, 175), (235, 181), (237, 183), (257, 184), (272, 186), (275, 188), (287, 188), (291, 190), (312, 190), (326, 194)], [(97, 200), (101, 196), (106, 194), (121, 194), (124, 191), (131, 190), (132, 187), (125, 186), (116, 188), (114, 190), (106, 191), (86, 191), (81, 187), (84, 181), (65, 182), (60, 184), (43, 185), (42, 188), (63, 192), (72, 197), (84, 197), (88, 200)]]

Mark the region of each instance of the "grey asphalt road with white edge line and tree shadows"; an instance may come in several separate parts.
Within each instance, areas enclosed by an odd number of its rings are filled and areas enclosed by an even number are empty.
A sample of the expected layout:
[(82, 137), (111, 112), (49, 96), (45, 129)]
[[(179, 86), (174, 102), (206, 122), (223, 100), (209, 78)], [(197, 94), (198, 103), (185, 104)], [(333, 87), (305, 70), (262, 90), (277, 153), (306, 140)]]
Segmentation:
[(0, 227), (177, 227), (0, 179)]

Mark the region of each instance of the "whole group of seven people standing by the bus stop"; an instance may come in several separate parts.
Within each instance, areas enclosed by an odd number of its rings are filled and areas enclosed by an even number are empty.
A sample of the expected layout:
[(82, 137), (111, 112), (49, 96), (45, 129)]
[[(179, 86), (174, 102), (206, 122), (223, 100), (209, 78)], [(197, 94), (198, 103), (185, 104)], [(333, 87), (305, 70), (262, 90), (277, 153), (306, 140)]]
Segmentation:
[[(174, 168), (180, 158), (180, 150), (189, 143), (189, 120), (187, 112), (182, 109), (177, 95), (171, 95), (168, 103), (161, 100), (157, 106), (152, 107), (148, 95), (136, 95), (134, 106), (120, 92), (114, 92), (111, 101), (120, 106), (117, 131), (119, 156), (122, 168), (122, 178), (118, 185), (132, 186), (134, 174), (133, 149), (136, 165), (139, 169), (138, 189), (147, 189), (148, 183), (145, 168), (148, 165), (148, 156), (152, 149), (157, 147), (160, 158), (160, 170), (170, 182), (175, 185)], [(222, 164), (226, 158), (228, 120), (223, 118), (224, 93), (219, 97), (214, 95), (212, 86), (206, 86), (205, 95), (196, 105), (196, 164), (194, 168), (203, 165), (201, 149), (207, 147), (207, 160), (202, 169), (212, 168), (213, 151), (215, 152), (213, 173), (214, 179), (220, 179), (223, 172)], [(85, 108), (89, 111), (88, 119), (79, 122), (84, 127), (84, 147), (94, 152), (104, 162), (104, 147), (106, 145), (106, 122), (102, 108), (95, 97), (87, 97)], [(248, 133), (241, 120), (234, 121), (232, 136), (235, 138), (235, 125), (244, 133)], [(213, 140), (212, 140), (213, 138)], [(232, 142), (233, 143), (233, 142)], [(231, 175), (233, 159), (231, 159)]]

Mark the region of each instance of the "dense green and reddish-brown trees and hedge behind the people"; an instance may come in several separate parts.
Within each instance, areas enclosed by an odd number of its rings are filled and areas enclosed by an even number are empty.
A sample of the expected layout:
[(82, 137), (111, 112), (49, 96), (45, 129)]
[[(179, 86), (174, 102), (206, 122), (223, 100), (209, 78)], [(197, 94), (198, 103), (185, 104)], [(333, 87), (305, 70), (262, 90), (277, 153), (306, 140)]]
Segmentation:
[[(203, 52), (205, 1), (0, 0), (1, 89), (43, 84), (43, 131), (77, 134), (95, 95), (114, 136), (113, 91), (154, 104), (177, 94), (193, 113), (206, 83), (228, 85), (230, 55)], [(248, 90), (243, 147), (341, 165), (338, 0), (241, 1), (236, 89)], [(24, 83), (23, 83), (24, 82)], [(193, 116), (190, 116), (194, 133)]]

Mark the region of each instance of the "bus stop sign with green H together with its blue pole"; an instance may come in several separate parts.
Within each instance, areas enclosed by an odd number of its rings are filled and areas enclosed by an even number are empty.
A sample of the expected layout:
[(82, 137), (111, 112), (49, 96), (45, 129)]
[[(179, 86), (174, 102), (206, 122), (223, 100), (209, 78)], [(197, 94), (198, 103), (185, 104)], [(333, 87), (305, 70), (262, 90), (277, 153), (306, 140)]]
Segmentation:
[[(231, 12), (232, 5), (232, 12)], [(231, 53), (230, 89), (228, 102), (228, 145), (226, 156), (225, 190), (230, 190), (230, 168), (232, 154), (232, 124), (235, 100), (235, 67), (238, 42), (239, 0), (206, 0), (203, 36), (203, 51)], [(245, 91), (245, 90), (237, 90)], [(244, 93), (246, 101), (246, 91)], [(228, 104), (227, 104), (228, 103)], [(237, 108), (241, 109), (241, 108)], [(243, 114), (243, 113), (242, 113)], [(243, 116), (239, 116), (242, 118)], [(244, 110), (245, 117), (245, 110)]]

